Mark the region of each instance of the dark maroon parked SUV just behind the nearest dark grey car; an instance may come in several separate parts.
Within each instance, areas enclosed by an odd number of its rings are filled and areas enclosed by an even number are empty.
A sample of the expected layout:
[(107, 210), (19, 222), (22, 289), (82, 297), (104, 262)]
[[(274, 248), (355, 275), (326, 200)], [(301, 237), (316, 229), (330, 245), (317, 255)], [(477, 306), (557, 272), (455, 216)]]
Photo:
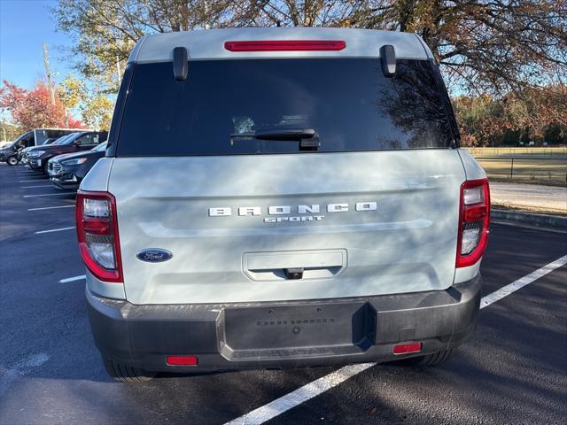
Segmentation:
[(32, 170), (43, 170), (47, 174), (47, 165), (50, 158), (64, 153), (77, 151), (89, 151), (99, 143), (103, 143), (108, 136), (106, 131), (83, 131), (69, 135), (64, 141), (50, 146), (42, 146), (41, 149), (33, 149), (27, 152), (27, 166)]

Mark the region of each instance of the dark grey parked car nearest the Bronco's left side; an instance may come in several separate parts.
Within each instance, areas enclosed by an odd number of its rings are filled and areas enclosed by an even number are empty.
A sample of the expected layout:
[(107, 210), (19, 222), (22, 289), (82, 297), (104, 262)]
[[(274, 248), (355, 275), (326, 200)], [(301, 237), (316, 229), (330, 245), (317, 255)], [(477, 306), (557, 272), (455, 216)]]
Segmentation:
[(105, 156), (106, 142), (90, 151), (66, 153), (48, 161), (47, 174), (58, 189), (79, 189), (79, 185), (97, 160)]

